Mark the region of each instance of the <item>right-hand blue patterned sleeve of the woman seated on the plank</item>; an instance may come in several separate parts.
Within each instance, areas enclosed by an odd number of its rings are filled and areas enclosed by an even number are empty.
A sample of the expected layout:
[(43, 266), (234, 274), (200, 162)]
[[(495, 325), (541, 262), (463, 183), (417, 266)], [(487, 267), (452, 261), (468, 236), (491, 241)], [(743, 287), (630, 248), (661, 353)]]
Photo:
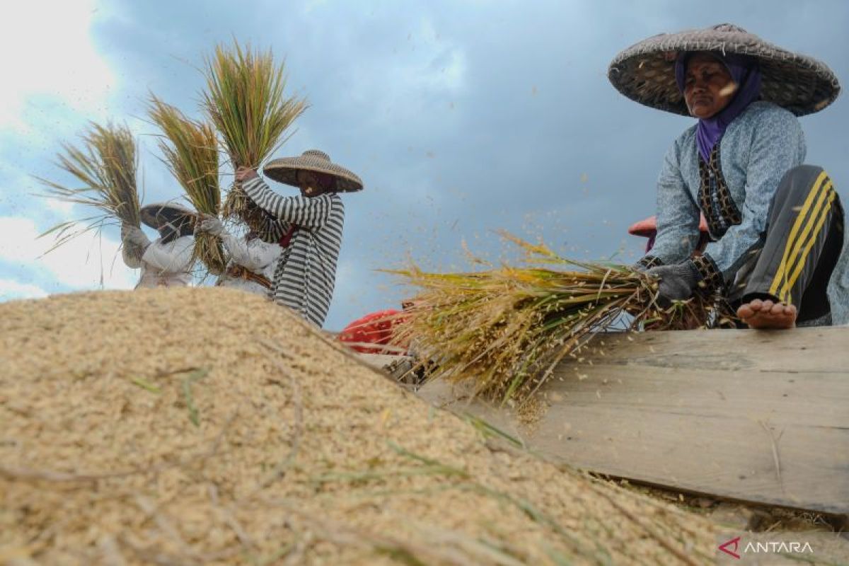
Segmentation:
[(796, 116), (775, 109), (757, 119), (745, 172), (745, 200), (737, 203), (742, 221), (705, 248), (705, 255), (727, 279), (766, 230), (769, 206), (781, 177), (805, 160), (805, 137)]

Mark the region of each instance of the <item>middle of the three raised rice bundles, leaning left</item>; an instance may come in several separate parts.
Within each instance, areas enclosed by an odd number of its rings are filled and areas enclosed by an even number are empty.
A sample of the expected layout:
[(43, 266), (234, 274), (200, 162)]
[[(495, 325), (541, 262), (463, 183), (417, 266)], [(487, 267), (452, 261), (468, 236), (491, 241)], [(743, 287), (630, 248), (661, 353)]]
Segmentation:
[[(221, 188), (215, 129), (208, 122), (189, 120), (155, 95), (150, 98), (149, 115), (170, 142), (160, 138), (159, 146), (188, 200), (198, 212), (218, 216)], [(194, 256), (212, 273), (223, 272), (227, 264), (221, 238), (208, 233), (195, 236)]]

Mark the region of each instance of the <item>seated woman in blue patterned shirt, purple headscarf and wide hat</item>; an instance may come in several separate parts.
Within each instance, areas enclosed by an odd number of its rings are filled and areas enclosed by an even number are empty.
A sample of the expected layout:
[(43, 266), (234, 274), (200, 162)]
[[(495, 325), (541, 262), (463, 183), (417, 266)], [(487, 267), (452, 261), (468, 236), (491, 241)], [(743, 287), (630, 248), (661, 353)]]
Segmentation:
[[(666, 153), (655, 245), (638, 263), (661, 297), (719, 294), (751, 328), (849, 322), (843, 209), (825, 171), (803, 165), (797, 119), (837, 97), (831, 70), (723, 24), (650, 37), (608, 76), (628, 98), (698, 119)], [(711, 241), (699, 254), (700, 213)]]

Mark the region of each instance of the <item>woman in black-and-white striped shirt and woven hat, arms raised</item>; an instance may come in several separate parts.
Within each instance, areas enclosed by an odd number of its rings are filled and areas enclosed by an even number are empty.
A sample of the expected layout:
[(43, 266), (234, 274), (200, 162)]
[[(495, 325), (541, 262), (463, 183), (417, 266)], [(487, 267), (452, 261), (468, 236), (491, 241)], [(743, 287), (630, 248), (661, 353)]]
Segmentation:
[(245, 193), (269, 215), (262, 238), (284, 248), (269, 296), (320, 327), (333, 299), (342, 244), (345, 207), (338, 193), (362, 190), (363, 182), (317, 149), (270, 161), (263, 172), (301, 189), (300, 195), (284, 197), (256, 171), (236, 171)]

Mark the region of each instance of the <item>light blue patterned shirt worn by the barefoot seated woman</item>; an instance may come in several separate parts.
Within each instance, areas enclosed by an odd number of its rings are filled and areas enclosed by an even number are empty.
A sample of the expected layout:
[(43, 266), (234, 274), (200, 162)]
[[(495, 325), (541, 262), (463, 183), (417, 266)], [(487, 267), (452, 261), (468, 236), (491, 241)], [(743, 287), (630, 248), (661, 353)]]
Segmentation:
[[(657, 236), (650, 255), (664, 264), (687, 260), (699, 243), (699, 219), (704, 212), (713, 240), (705, 255), (724, 283), (730, 283), (766, 232), (769, 206), (781, 178), (804, 162), (805, 136), (789, 110), (763, 101), (750, 104), (728, 125), (712, 155), (721, 170), (720, 180), (711, 167), (700, 166), (695, 131), (696, 126), (689, 127), (666, 153), (657, 182)], [(710, 187), (705, 194), (700, 193), (703, 180)], [(847, 233), (829, 282), (835, 324), (849, 322), (846, 238)]]

